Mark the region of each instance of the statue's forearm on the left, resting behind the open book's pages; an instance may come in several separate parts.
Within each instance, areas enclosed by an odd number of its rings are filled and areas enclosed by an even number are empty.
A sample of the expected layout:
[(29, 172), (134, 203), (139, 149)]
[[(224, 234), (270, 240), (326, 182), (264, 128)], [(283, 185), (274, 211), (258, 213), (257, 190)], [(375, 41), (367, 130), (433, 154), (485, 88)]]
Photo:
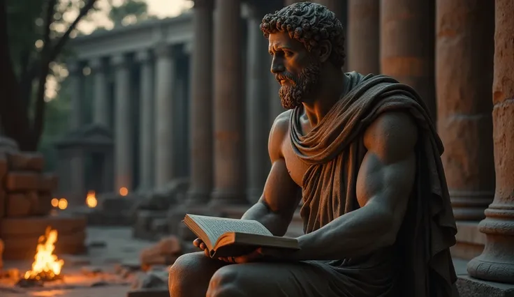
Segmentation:
[(284, 218), (284, 215), (274, 213), (263, 201), (258, 201), (254, 206), (251, 206), (241, 218), (260, 222), (275, 236), (284, 236), (291, 222), (291, 218), (288, 220)]

